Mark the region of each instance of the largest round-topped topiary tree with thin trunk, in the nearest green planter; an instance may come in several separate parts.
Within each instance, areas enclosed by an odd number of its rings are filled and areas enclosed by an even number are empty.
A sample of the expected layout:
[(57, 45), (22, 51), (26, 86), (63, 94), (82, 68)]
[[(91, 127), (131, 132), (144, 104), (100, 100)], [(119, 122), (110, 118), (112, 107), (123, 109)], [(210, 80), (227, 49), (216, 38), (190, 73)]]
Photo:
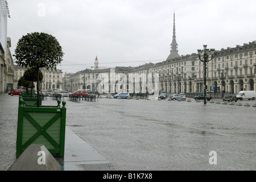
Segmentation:
[(34, 32), (23, 35), (18, 40), (15, 54), (13, 55), (18, 66), (35, 68), (37, 70), (37, 106), (39, 107), (39, 69), (56, 69), (61, 63), (62, 47), (54, 36)]

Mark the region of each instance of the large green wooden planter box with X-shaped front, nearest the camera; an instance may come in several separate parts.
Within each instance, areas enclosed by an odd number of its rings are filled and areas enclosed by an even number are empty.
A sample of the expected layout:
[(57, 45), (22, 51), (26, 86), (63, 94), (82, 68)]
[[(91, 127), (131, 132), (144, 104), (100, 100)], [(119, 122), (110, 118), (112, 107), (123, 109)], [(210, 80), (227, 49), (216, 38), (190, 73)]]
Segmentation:
[(57, 106), (25, 106), (19, 98), (16, 157), (30, 144), (43, 144), (51, 154), (64, 156), (66, 102)]

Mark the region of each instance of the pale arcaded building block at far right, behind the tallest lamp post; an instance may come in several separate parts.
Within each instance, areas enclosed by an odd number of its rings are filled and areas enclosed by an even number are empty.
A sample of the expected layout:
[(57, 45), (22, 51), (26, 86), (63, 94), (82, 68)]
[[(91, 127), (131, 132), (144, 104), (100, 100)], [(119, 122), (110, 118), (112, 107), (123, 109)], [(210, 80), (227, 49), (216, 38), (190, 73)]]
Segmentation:
[[(215, 51), (207, 65), (208, 92), (238, 93), (256, 90), (256, 41)], [(203, 90), (203, 64), (197, 59), (196, 88)], [(211, 88), (214, 90), (210, 90)]]

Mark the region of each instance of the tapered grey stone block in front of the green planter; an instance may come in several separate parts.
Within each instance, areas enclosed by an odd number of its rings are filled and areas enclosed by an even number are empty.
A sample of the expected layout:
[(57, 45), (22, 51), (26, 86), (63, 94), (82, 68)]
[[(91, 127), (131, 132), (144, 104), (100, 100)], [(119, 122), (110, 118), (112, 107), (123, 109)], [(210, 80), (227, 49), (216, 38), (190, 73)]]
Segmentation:
[[(44, 153), (38, 153), (43, 151)], [(42, 144), (31, 144), (8, 171), (62, 171), (63, 168)]]

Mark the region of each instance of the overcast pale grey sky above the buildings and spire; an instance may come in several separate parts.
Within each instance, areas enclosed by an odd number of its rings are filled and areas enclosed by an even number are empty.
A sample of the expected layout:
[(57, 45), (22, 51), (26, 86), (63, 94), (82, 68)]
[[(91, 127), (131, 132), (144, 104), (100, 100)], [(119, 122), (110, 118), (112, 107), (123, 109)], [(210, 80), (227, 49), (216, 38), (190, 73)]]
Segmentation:
[[(62, 46), (63, 72), (138, 66), (166, 60), (173, 36), (179, 55), (256, 40), (255, 0), (8, 0), (7, 36), (14, 54), (27, 33), (45, 32)], [(13, 57), (14, 58), (14, 57)]]

